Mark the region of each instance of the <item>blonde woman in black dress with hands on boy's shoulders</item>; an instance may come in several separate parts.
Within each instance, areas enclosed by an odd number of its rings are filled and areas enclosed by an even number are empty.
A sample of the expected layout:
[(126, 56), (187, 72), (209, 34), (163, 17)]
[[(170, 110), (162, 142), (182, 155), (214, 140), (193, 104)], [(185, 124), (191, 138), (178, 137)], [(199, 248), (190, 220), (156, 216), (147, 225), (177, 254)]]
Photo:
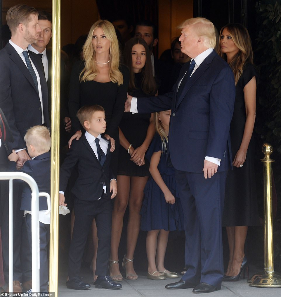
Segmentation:
[[(119, 151), (118, 126), (124, 113), (129, 84), (129, 69), (120, 64), (119, 45), (114, 26), (107, 20), (95, 22), (83, 46), (84, 61), (74, 64), (69, 91), (69, 112), (79, 139), (82, 127), (76, 113), (84, 105), (101, 105), (106, 115), (106, 135), (115, 140), (115, 151), (111, 157), (111, 168), (116, 175)], [(106, 136), (105, 135), (105, 136)], [(109, 139), (109, 136), (107, 137)], [(113, 148), (111, 140), (111, 149)], [(73, 221), (73, 220), (72, 220)], [(95, 274), (95, 259), (98, 247), (97, 228), (93, 222), (94, 258), (92, 270)], [(94, 276), (94, 281), (96, 276)]]

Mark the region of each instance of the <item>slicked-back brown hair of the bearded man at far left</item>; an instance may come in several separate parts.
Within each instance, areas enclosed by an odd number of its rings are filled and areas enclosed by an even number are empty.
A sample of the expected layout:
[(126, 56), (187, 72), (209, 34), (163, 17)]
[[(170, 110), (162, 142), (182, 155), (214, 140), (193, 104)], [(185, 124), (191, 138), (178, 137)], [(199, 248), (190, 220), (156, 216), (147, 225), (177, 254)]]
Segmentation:
[(15, 34), (19, 24), (27, 26), (31, 20), (31, 15), (38, 15), (38, 11), (34, 7), (25, 4), (17, 4), (10, 7), (7, 11), (6, 20), (11, 33)]

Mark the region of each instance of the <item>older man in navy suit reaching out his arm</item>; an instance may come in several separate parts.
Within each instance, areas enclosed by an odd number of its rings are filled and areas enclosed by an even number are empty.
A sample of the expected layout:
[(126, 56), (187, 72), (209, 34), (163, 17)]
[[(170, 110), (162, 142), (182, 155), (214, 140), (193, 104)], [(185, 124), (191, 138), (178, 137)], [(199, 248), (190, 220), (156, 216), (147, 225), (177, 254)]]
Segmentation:
[[(231, 69), (213, 50), (213, 23), (193, 18), (181, 28), (181, 48), (191, 63), (182, 67), (173, 92), (139, 100), (137, 105), (133, 99), (131, 111), (172, 109), (168, 149), (184, 211), (187, 272), (166, 288), (194, 287), (194, 293), (208, 293), (220, 290), (223, 277), (221, 217), (231, 167), (235, 85)], [(126, 110), (130, 101), (131, 97)]]

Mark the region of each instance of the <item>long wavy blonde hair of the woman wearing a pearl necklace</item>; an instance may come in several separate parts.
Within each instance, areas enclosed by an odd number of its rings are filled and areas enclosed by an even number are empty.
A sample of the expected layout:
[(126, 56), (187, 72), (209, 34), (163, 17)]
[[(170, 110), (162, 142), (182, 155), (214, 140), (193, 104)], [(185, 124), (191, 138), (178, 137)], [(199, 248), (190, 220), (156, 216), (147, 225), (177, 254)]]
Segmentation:
[(120, 54), (119, 45), (116, 37), (114, 26), (108, 20), (98, 20), (96, 21), (88, 34), (86, 42), (83, 46), (83, 56), (85, 60), (85, 67), (80, 73), (80, 82), (94, 80), (98, 75), (98, 69), (96, 65), (96, 54), (92, 45), (92, 38), (95, 29), (103, 29), (103, 33), (106, 38), (110, 41), (109, 50), (109, 78), (113, 83), (117, 83), (118, 86), (123, 83), (123, 75), (119, 70)]

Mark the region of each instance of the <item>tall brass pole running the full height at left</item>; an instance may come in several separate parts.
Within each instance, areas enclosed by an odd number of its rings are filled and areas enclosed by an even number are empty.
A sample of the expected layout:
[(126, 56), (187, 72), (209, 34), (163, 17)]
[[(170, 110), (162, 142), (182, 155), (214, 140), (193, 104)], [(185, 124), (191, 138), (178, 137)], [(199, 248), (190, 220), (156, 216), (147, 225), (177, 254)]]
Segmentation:
[(49, 292), (58, 297), (58, 192), (60, 155), (60, 0), (52, 0), (51, 224)]

